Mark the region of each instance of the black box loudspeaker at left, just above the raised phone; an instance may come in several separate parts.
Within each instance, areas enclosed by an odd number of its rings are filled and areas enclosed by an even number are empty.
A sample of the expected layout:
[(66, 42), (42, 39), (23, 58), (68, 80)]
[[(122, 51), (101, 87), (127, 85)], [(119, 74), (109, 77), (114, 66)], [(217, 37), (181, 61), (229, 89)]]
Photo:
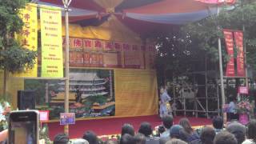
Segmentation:
[(18, 110), (35, 109), (35, 91), (18, 90)]

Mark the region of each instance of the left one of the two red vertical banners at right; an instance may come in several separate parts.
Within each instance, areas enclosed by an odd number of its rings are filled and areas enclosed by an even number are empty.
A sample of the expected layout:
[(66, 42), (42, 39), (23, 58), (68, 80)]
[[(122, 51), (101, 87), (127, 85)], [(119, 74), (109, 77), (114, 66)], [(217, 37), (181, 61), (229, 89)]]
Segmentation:
[(233, 32), (231, 30), (223, 30), (225, 42), (226, 42), (226, 51), (230, 56), (229, 62), (226, 64), (226, 76), (234, 77), (234, 41), (233, 41)]

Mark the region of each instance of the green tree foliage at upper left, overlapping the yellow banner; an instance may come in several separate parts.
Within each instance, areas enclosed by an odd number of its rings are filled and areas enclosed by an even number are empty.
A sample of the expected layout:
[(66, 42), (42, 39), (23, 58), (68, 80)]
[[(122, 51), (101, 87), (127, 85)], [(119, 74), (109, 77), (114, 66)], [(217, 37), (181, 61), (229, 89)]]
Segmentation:
[(14, 39), (14, 34), (22, 30), (19, 9), (24, 8), (26, 0), (0, 0), (0, 70), (22, 71), (34, 66), (37, 52), (23, 49)]

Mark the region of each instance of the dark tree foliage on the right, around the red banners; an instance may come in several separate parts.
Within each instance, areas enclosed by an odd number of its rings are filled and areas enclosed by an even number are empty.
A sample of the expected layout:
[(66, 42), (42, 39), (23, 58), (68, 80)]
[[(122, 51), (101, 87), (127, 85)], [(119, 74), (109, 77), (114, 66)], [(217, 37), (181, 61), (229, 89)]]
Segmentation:
[[(216, 70), (218, 66), (218, 38), (222, 43), (222, 59), (224, 66), (229, 60), (222, 35), (222, 29), (242, 30), (245, 27), (244, 45), (246, 46), (247, 66), (256, 70), (256, 2), (238, 1), (233, 6), (222, 6), (219, 15), (198, 22), (191, 22), (184, 26), (174, 27), (165, 33), (154, 35), (157, 41), (158, 57), (156, 66), (160, 77), (169, 78), (190, 72), (193, 67), (204, 64), (203, 58), (214, 63), (209, 70)], [(236, 57), (234, 49), (234, 57)], [(194, 62), (198, 61), (198, 62)], [(198, 69), (197, 69), (198, 71)], [(158, 77), (158, 79), (160, 79)]]

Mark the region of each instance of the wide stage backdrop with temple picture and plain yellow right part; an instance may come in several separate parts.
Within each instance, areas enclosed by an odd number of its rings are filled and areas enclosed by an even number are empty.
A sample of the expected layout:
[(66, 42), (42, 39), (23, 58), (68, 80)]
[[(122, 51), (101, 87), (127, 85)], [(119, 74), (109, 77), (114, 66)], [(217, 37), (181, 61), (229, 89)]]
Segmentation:
[[(50, 119), (64, 112), (64, 86), (60, 80), (31, 80), (25, 90), (35, 90), (37, 109), (50, 110)], [(77, 96), (81, 97), (81, 103)], [(70, 69), (70, 112), (77, 118), (157, 114), (155, 70)]]

